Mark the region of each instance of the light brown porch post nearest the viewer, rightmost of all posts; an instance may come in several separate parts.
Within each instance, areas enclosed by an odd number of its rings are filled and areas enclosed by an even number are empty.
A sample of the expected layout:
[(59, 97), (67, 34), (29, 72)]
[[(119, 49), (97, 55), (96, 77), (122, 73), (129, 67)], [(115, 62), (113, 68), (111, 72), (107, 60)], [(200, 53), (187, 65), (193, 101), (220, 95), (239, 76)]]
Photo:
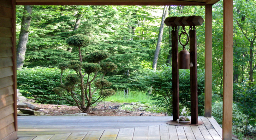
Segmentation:
[(233, 0), (224, 0), (222, 139), (232, 139), (233, 103)]

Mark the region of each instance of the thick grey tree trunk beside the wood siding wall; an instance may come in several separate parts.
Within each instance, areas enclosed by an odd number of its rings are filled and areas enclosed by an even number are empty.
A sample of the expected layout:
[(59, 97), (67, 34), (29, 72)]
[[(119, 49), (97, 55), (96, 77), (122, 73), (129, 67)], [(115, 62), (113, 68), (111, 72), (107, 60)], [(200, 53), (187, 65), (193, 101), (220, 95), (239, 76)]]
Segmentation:
[(17, 68), (20, 68), (24, 64), (25, 53), (26, 53), (26, 44), (29, 37), (29, 26), (31, 21), (32, 6), (24, 6), (24, 13), (21, 22), (19, 42), (17, 45)]

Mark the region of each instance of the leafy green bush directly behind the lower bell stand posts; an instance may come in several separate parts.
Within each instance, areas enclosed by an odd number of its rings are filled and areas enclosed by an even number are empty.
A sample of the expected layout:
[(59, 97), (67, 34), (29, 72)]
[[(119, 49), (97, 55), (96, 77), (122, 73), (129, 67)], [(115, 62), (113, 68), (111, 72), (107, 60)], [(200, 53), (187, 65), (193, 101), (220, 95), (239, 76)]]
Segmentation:
[[(197, 70), (198, 85), (198, 115), (204, 113), (204, 71)], [(172, 67), (163, 66), (162, 71), (151, 71), (144, 76), (147, 86), (152, 87), (150, 97), (156, 100), (158, 106), (166, 107), (167, 114), (172, 113)], [(179, 70), (179, 101), (181, 108), (185, 106), (190, 109), (190, 72), (189, 70)]]

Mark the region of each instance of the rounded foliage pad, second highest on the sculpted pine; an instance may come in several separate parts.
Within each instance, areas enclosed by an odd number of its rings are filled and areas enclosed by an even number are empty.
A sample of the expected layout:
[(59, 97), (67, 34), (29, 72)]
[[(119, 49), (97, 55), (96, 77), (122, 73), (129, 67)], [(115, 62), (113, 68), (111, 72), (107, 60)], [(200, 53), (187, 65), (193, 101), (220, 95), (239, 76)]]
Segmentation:
[(86, 57), (86, 60), (88, 62), (99, 63), (101, 60), (107, 59), (109, 55), (106, 51), (94, 51)]

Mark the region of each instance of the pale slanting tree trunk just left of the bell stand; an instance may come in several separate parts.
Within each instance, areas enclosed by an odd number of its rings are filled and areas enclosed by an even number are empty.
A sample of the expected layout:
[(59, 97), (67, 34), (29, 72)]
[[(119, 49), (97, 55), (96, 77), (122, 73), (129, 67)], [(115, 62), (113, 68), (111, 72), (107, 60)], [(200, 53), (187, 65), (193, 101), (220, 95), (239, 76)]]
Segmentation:
[(160, 28), (159, 28), (159, 34), (158, 34), (158, 39), (157, 39), (157, 44), (156, 44), (156, 51), (155, 51), (155, 55), (154, 55), (154, 59), (153, 59), (152, 68), (154, 69), (154, 71), (156, 71), (157, 59), (158, 59), (158, 56), (159, 56), (162, 37), (163, 37), (163, 26), (164, 26), (163, 21), (165, 21), (168, 8), (169, 8), (169, 6), (165, 6), (163, 8), (163, 15), (162, 15), (162, 20), (161, 20), (161, 25), (160, 25)]

